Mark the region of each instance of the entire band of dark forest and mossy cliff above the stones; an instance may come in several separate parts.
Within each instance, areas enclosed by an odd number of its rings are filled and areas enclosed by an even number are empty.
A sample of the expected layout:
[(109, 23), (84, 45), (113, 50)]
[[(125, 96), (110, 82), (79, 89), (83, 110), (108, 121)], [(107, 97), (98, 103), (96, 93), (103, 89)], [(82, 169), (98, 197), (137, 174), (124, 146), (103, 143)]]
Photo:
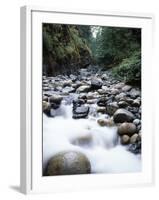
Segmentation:
[(76, 73), (89, 65), (140, 85), (141, 29), (43, 24), (44, 74)]

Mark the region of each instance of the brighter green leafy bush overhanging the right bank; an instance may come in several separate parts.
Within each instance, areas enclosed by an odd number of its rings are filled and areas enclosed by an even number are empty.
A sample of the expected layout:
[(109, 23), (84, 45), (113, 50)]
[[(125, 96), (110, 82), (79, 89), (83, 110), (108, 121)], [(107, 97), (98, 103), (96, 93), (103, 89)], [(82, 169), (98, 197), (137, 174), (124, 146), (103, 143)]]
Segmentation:
[(141, 52), (135, 51), (130, 57), (112, 70), (114, 76), (131, 84), (141, 84)]

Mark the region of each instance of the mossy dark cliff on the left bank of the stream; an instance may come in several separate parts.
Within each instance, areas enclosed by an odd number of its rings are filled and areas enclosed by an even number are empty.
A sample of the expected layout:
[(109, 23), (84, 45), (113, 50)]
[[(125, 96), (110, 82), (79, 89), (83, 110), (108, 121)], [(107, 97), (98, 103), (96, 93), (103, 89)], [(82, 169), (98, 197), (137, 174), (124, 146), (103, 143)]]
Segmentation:
[(43, 24), (43, 73), (66, 74), (89, 65), (89, 34), (88, 26)]

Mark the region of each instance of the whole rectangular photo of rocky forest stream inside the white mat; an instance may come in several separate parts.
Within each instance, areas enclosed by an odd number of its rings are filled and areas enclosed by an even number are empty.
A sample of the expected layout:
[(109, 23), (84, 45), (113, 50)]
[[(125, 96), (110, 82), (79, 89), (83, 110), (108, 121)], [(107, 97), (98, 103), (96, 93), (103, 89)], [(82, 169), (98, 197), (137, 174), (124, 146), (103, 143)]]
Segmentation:
[(141, 29), (42, 24), (43, 176), (142, 170)]

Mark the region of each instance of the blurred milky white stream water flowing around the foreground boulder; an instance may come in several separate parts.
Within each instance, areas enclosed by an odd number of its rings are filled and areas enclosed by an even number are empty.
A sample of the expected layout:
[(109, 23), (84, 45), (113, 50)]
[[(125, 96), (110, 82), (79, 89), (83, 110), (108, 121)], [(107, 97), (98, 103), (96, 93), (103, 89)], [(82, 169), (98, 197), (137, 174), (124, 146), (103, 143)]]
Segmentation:
[(120, 144), (116, 127), (99, 126), (93, 115), (72, 119), (72, 104), (64, 102), (55, 112), (53, 118), (43, 115), (43, 169), (56, 153), (75, 150), (88, 157), (92, 173), (141, 171), (141, 156)]

